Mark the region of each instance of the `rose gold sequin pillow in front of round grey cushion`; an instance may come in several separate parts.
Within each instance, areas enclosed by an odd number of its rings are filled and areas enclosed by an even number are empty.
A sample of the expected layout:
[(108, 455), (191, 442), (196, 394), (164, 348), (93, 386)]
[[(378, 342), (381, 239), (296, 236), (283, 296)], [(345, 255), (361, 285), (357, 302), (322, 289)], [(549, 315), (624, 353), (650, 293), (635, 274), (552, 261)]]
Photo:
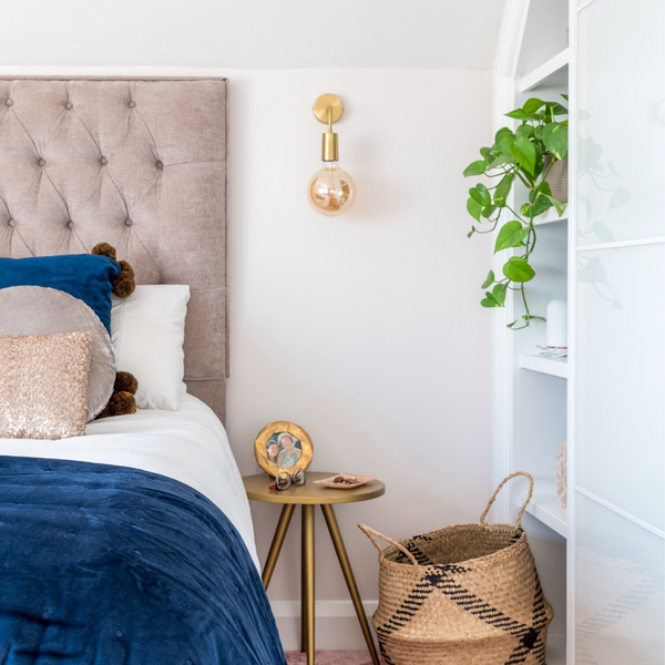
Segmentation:
[(0, 335), (0, 439), (85, 433), (92, 335)]

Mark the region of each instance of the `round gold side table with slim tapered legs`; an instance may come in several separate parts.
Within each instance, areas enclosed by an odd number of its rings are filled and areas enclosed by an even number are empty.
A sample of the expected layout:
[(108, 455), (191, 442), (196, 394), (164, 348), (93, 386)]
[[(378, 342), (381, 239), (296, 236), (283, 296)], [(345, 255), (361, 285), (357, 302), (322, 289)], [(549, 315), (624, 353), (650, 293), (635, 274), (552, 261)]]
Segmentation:
[(314, 507), (320, 505), (332, 539), (335, 552), (339, 560), (339, 565), (344, 577), (346, 580), (365, 641), (371, 654), (374, 665), (379, 665), (379, 656), (371, 636), (371, 631), (367, 616), (365, 616), (365, 610), (362, 608), (362, 601), (358, 593), (358, 586), (356, 579), (354, 577), (354, 571), (349, 562), (349, 556), (341, 539), (341, 532), (337, 524), (337, 518), (332, 505), (336, 503), (355, 503), (357, 501), (369, 501), (370, 499), (377, 499), (386, 492), (386, 485), (378, 481), (372, 480), (371, 482), (356, 488), (354, 490), (336, 490), (326, 488), (324, 485), (314, 484), (315, 480), (329, 478), (335, 473), (323, 473), (311, 472), (307, 473), (307, 482), (301, 487), (291, 485), (288, 490), (278, 491), (269, 490), (268, 488), (274, 484), (274, 479), (265, 473), (258, 475), (246, 475), (243, 478), (245, 483), (245, 490), (247, 498), (252, 501), (264, 501), (266, 503), (282, 503), (282, 514), (277, 522), (277, 529), (273, 536), (273, 544), (266, 559), (262, 580), (264, 587), (267, 590), (277, 563), (277, 557), (282, 550), (288, 525), (293, 518), (296, 505), (303, 507), (303, 595), (301, 595), (301, 651), (307, 654), (307, 665), (314, 665)]

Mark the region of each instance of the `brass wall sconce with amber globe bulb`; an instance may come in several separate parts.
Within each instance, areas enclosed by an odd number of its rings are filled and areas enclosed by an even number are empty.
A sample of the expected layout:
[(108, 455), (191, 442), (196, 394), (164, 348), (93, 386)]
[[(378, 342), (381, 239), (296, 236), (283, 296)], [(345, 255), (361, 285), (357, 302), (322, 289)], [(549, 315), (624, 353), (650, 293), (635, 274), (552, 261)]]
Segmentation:
[(321, 215), (336, 217), (346, 213), (356, 201), (354, 178), (339, 167), (339, 144), (332, 132), (344, 113), (341, 100), (336, 94), (324, 94), (314, 103), (314, 115), (328, 125), (324, 134), (321, 160), (324, 167), (315, 173), (307, 185), (307, 200)]

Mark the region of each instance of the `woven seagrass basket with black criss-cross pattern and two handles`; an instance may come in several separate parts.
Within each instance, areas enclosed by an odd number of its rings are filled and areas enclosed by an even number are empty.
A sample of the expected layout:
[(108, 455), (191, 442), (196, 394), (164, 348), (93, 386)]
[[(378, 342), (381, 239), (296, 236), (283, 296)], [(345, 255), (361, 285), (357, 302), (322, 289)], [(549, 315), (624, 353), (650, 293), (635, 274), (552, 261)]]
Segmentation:
[[(485, 524), (501, 488), (524, 475), (530, 490), (516, 524)], [(543, 665), (552, 607), (545, 601), (522, 515), (528, 473), (509, 475), (479, 524), (395, 542), (358, 526), (379, 551), (374, 626), (388, 665)], [(385, 550), (377, 538), (390, 543)]]

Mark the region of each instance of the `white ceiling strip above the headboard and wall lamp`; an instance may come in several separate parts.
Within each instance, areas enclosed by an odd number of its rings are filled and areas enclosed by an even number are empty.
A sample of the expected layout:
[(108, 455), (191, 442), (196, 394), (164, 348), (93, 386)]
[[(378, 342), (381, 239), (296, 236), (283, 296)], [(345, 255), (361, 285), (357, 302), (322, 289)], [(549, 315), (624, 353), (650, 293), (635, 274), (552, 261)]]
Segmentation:
[(504, 0), (21, 0), (3, 65), (490, 69)]

